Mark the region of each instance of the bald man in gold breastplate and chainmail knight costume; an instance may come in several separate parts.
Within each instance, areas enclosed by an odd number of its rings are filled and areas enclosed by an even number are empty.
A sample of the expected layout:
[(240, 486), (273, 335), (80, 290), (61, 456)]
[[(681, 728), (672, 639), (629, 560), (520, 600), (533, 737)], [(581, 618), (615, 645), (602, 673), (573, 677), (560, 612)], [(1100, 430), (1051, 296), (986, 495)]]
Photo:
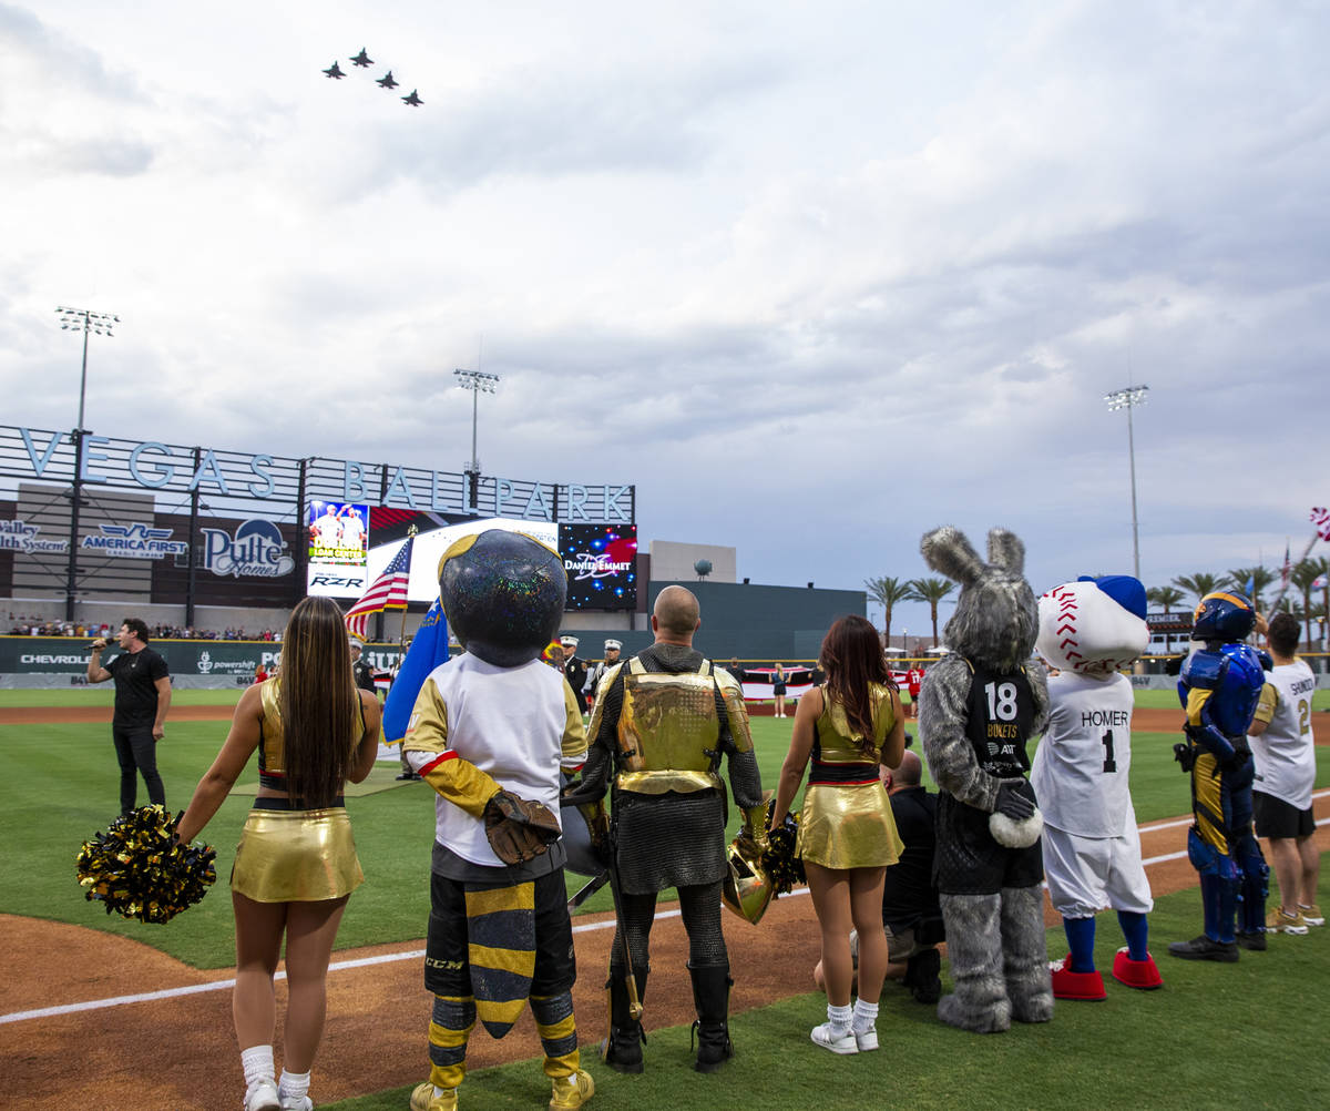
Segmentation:
[(693, 648), (698, 625), (690, 591), (660, 592), (652, 613), (656, 643), (612, 667), (596, 691), (593, 741), (583, 782), (571, 793), (577, 802), (592, 802), (610, 786), (610, 874), (620, 906), (606, 983), (610, 1029), (601, 1055), (620, 1072), (642, 1071), (645, 1040), (640, 1018), (630, 1013), (625, 945), (636, 990), (644, 995), (656, 897), (666, 887), (678, 890), (688, 931), (698, 1034), (694, 1067), (714, 1072), (734, 1055), (730, 962), (721, 933), (728, 869), (722, 757), (734, 802), (743, 810), (743, 837), (754, 850), (766, 845), (766, 808), (743, 692)]

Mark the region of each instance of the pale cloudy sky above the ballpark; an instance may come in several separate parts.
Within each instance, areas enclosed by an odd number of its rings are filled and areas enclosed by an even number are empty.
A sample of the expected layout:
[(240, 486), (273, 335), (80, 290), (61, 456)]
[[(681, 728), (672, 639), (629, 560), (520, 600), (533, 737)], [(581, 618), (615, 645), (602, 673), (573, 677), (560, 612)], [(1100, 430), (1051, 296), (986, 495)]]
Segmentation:
[(1146, 383), (1142, 579), (1277, 564), (1330, 500), (1327, 41), (1295, 0), (0, 0), (0, 423), (74, 423), (56, 305), (122, 318), (85, 423), (128, 439), (458, 471), (479, 366), (485, 474), (634, 483), (644, 540), (853, 588), (1004, 524), (1043, 589), (1130, 571), (1101, 398)]

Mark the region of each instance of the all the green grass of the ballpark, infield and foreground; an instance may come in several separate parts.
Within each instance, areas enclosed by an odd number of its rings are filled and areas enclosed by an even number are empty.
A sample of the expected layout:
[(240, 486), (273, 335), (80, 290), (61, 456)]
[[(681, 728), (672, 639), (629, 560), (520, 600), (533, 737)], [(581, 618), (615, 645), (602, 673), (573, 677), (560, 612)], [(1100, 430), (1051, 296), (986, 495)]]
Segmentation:
[[(88, 705), (102, 692), (0, 692), (0, 705)], [(109, 692), (106, 692), (109, 693)], [(1158, 692), (1166, 696), (1166, 692)], [(231, 692), (181, 692), (225, 696)], [(66, 701), (68, 700), (68, 701)], [(185, 699), (182, 697), (181, 701)], [(1148, 704), (1141, 699), (1141, 704)], [(1172, 705), (1170, 701), (1162, 703)], [(109, 699), (108, 707), (109, 722)], [(763, 782), (775, 782), (791, 721), (754, 718)], [(915, 726), (911, 724), (910, 730)], [(172, 809), (182, 808), (207, 768), (225, 722), (169, 725), (160, 764)], [(1132, 789), (1141, 822), (1182, 814), (1188, 785), (1172, 760), (1170, 733), (1133, 736)], [(233, 963), (231, 911), (226, 877), (251, 798), (227, 800), (205, 832), (218, 849), (218, 885), (202, 903), (166, 926), (108, 917), (82, 898), (73, 862), (80, 844), (105, 829), (117, 805), (118, 768), (109, 724), (0, 726), (9, 774), (0, 781), (0, 910), (72, 922), (130, 937), (201, 969)], [(1330, 753), (1318, 750), (1318, 786), (1330, 784)], [(351, 899), (338, 947), (416, 941), (428, 915), (432, 793), (419, 782), (398, 784), (396, 766), (371, 776), (371, 793), (348, 809), (367, 882)], [(242, 784), (255, 780), (253, 768)], [(732, 824), (737, 816), (732, 813)], [(571, 887), (576, 882), (569, 883)], [(1271, 877), (1271, 886), (1274, 886)], [(1321, 903), (1330, 905), (1322, 883)], [(608, 894), (589, 907), (608, 909)], [(1152, 915), (1154, 950), (1192, 937), (1200, 911), (1196, 893), (1160, 899)], [(732, 943), (741, 938), (732, 931)], [(1109, 967), (1121, 943), (1111, 914), (1100, 917), (1097, 955)], [(1064, 951), (1060, 930), (1049, 931), (1049, 953)], [(698, 1111), (743, 1106), (822, 1107), (829, 1111), (896, 1103), (919, 1108), (1067, 1108), (1136, 1104), (1142, 1108), (1319, 1107), (1330, 1096), (1323, 1066), (1323, 1031), (1330, 999), (1319, 985), (1330, 977), (1330, 929), (1306, 938), (1279, 938), (1266, 954), (1244, 954), (1237, 966), (1160, 961), (1166, 986), (1134, 993), (1111, 983), (1104, 1003), (1060, 1003), (1053, 1023), (1016, 1027), (998, 1038), (962, 1034), (940, 1025), (932, 1009), (915, 1005), (888, 985), (879, 1018), (882, 1051), (839, 1059), (807, 1042), (825, 1017), (821, 995), (797, 995), (738, 1015), (738, 1056), (721, 1076), (689, 1068), (689, 1030), (652, 1030), (648, 1072), (622, 1078), (587, 1051), (598, 1084), (593, 1107), (688, 1106)], [(946, 966), (944, 966), (946, 971)], [(791, 985), (807, 981), (791, 970)], [(649, 1018), (648, 1018), (649, 1022)], [(598, 1026), (597, 1026), (598, 1029)], [(477, 1035), (485, 1036), (485, 1035)], [(230, 1035), (223, 1039), (229, 1044)], [(230, 1052), (230, 1048), (226, 1050)], [(1013, 1055), (1015, 1054), (1015, 1055)], [(1217, 1070), (1216, 1056), (1222, 1062)], [(424, 1035), (422, 1031), (422, 1059)], [(1003, 1078), (999, 1094), (995, 1078)], [(317, 1090), (315, 1090), (317, 1096)], [(402, 1111), (407, 1090), (396, 1088), (331, 1107), (338, 1111)], [(463, 1088), (466, 1107), (531, 1107), (548, 1099), (539, 1062), (484, 1070)]]

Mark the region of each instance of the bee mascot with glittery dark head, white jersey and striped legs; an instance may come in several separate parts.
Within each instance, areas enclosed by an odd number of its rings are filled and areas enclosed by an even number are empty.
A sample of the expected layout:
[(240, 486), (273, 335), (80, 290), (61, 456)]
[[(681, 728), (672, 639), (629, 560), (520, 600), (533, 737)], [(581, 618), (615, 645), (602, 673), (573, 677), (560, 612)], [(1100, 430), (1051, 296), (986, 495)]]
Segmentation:
[(564, 612), (559, 555), (529, 536), (467, 536), (439, 561), (439, 596), (467, 649), (435, 668), (403, 752), (438, 793), (426, 987), (430, 1080), (412, 1111), (454, 1111), (479, 1018), (501, 1038), (527, 1001), (545, 1050), (552, 1108), (595, 1091), (579, 1068), (572, 926), (559, 841), (560, 770), (587, 734), (560, 671), (540, 661)]

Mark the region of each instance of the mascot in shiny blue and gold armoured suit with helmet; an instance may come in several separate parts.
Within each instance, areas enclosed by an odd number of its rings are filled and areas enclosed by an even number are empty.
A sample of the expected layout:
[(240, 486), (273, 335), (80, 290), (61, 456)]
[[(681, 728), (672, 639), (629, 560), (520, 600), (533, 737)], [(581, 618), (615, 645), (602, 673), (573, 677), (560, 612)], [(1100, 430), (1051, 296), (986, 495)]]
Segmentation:
[[(1265, 949), (1270, 870), (1252, 833), (1254, 768), (1248, 728), (1265, 684), (1262, 660), (1242, 641), (1256, 624), (1246, 596), (1216, 591), (1201, 599), (1192, 624), (1200, 647), (1182, 664), (1177, 693), (1186, 708), (1186, 740), (1173, 752), (1192, 774), (1186, 852), (1201, 873), (1205, 931), (1168, 951), (1188, 961), (1238, 959), (1238, 945)], [(1234, 915), (1241, 903), (1241, 922)]]

